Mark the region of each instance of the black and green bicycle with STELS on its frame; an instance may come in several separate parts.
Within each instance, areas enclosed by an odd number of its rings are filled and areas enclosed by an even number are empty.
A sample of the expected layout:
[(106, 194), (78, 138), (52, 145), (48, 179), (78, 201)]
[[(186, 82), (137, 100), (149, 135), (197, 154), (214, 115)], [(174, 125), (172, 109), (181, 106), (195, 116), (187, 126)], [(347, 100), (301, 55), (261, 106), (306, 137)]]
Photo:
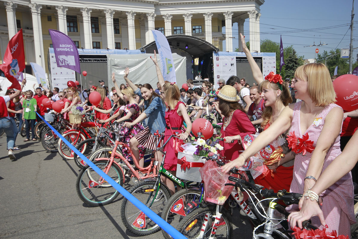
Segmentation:
[[(164, 135), (162, 133), (160, 137), (163, 136)], [(193, 182), (180, 180), (179, 178), (171, 174), (169, 171), (167, 171), (165, 168), (163, 168), (163, 164), (165, 162), (165, 152), (163, 151), (163, 148), (172, 137), (178, 138), (175, 135), (171, 135), (162, 147), (159, 148), (157, 145), (157, 151), (163, 153), (164, 158), (162, 162), (155, 161), (154, 165), (159, 167), (158, 176), (156, 177), (156, 180), (142, 182), (129, 190), (132, 195), (134, 195), (137, 199), (139, 199), (147, 207), (149, 207), (151, 210), (153, 210), (156, 214), (160, 216), (161, 212), (164, 211), (164, 204), (171, 197), (168, 187), (161, 182), (160, 176), (163, 175), (169, 178), (171, 181), (174, 182), (177, 187), (187, 188), (188, 199), (190, 198), (190, 196), (193, 198), (199, 198), (199, 196), (201, 195), (200, 188), (196, 187)], [(176, 195), (177, 198), (180, 198), (183, 197), (185, 193), (178, 191), (174, 195)], [(122, 202), (121, 214), (123, 224), (129, 231), (136, 235), (149, 235), (160, 230), (159, 226), (154, 223), (154, 221), (152, 221), (150, 218), (147, 218), (147, 216), (142, 211), (137, 209), (137, 207), (135, 207), (127, 199), (124, 199), (124, 201)], [(166, 215), (166, 218), (168, 217), (169, 214)]]

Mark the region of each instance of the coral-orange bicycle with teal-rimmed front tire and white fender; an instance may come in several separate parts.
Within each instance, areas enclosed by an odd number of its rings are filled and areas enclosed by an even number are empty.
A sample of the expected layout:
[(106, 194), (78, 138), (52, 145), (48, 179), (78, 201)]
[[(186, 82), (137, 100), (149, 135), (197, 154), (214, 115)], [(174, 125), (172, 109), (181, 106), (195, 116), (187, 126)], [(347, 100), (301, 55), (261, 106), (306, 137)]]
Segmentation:
[[(135, 177), (139, 181), (156, 177), (156, 169), (154, 167), (153, 161), (150, 161), (147, 167), (142, 168), (137, 163), (136, 158), (133, 158), (135, 166), (136, 168), (138, 168), (138, 170), (135, 170), (131, 163), (123, 156), (121, 147), (124, 146), (128, 148), (129, 153), (132, 155), (132, 157), (134, 157), (131, 149), (129, 148), (129, 145), (119, 141), (121, 138), (124, 138), (124, 136), (120, 135), (120, 129), (123, 126), (123, 123), (124, 121), (122, 121), (118, 127), (117, 122), (112, 124), (113, 131), (116, 132), (116, 141), (113, 145), (113, 148), (110, 149), (110, 158), (96, 158), (93, 160), (93, 162), (96, 165), (100, 165), (106, 174), (108, 174), (109, 169), (113, 167), (113, 169), (115, 170), (114, 177), (121, 178), (121, 180), (118, 181), (120, 182), (121, 186), (124, 183), (124, 171), (122, 169), (124, 165), (128, 167), (129, 172), (131, 173), (131, 177)], [(102, 151), (103, 148), (98, 149), (97, 151), (101, 150), (102, 153), (108, 152), (107, 148), (108, 147), (104, 148), (105, 151)], [(96, 152), (94, 152), (93, 154), (97, 155)], [(120, 163), (114, 160), (115, 157), (121, 160)], [(111, 203), (113, 200), (116, 199), (119, 192), (110, 185), (103, 186), (103, 183), (105, 182), (103, 182), (102, 180), (103, 179), (99, 177), (98, 174), (93, 171), (93, 169), (88, 165), (81, 169), (81, 172), (77, 176), (76, 191), (79, 198), (85, 204), (90, 206), (103, 206)], [(91, 186), (91, 184), (95, 186)]]

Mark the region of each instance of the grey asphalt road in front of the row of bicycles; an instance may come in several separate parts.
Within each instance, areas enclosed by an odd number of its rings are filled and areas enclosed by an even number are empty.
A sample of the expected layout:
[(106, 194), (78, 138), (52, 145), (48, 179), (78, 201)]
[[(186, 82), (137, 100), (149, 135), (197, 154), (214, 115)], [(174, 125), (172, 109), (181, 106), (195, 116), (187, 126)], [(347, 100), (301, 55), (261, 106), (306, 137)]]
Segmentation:
[[(18, 135), (16, 161), (0, 137), (0, 238), (138, 238), (122, 224), (122, 196), (102, 207), (89, 207), (76, 193), (79, 168), (73, 160), (44, 150), (40, 142), (23, 142)], [(126, 180), (125, 188), (129, 188)], [(233, 238), (252, 238), (252, 228), (238, 210)], [(146, 239), (163, 238), (161, 231)]]

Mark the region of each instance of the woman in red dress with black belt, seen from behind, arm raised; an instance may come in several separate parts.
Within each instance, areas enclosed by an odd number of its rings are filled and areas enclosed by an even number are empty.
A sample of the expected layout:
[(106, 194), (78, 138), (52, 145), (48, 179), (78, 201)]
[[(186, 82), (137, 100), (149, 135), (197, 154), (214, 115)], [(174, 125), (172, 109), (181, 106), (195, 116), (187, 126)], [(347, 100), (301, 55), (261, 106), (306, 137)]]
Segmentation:
[[(153, 60), (153, 63), (155, 65), (159, 85), (161, 90), (164, 92), (164, 101), (167, 105), (167, 110), (165, 111), (166, 129), (164, 142), (166, 142), (166, 140), (168, 140), (170, 135), (172, 134), (177, 134), (177, 136), (180, 138), (180, 140), (178, 140), (178, 138), (171, 138), (164, 148), (166, 154), (163, 167), (175, 176), (178, 159), (178, 147), (180, 144), (183, 143), (183, 140), (188, 138), (189, 132), (192, 131), (192, 122), (190, 121), (185, 104), (180, 101), (179, 87), (174, 82), (164, 82), (164, 78), (161, 74), (155, 51), (154, 58), (151, 57), (151, 59)], [(187, 124), (187, 129), (185, 130), (185, 132), (183, 132), (182, 130), (184, 120)], [(165, 185), (168, 186), (171, 195), (173, 195), (175, 193), (174, 183), (165, 176), (162, 176), (161, 180), (163, 180)]]

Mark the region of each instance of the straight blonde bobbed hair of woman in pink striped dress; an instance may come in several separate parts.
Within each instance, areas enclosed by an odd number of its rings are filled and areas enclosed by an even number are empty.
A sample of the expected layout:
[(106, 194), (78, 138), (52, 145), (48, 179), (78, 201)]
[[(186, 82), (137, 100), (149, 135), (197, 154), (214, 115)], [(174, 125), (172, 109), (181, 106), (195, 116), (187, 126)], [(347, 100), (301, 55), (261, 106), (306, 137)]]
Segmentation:
[(299, 66), (295, 78), (308, 82), (308, 95), (315, 106), (326, 106), (334, 103), (336, 94), (328, 68), (322, 63), (310, 63)]

